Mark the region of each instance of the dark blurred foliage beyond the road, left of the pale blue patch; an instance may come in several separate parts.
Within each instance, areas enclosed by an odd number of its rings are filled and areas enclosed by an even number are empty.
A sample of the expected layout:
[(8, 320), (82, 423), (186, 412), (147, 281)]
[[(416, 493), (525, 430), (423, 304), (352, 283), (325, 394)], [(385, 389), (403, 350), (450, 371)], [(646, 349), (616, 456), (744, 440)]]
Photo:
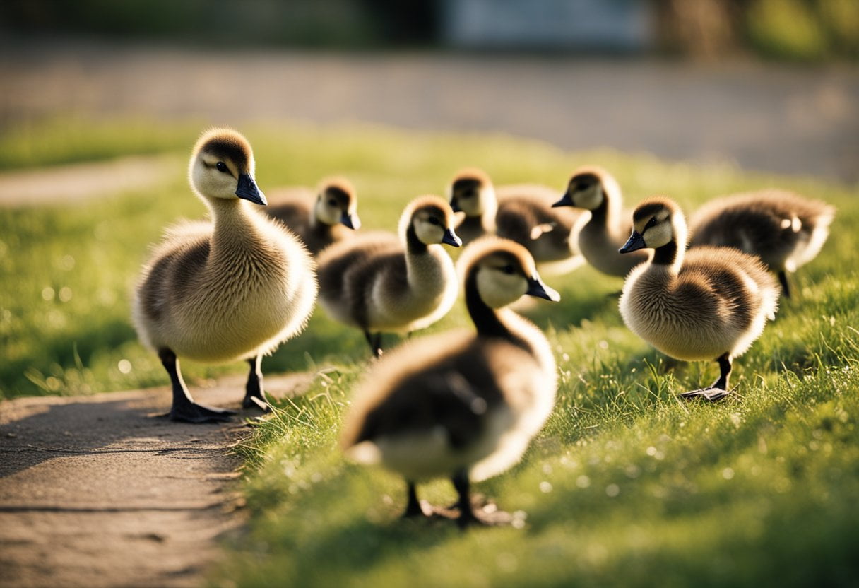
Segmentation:
[[(413, 5), (413, 6), (412, 6)], [(410, 9), (406, 9), (406, 8)], [(390, 0), (6, 0), (15, 33), (93, 34), (217, 46), (379, 46), (423, 41), (431, 3)]]

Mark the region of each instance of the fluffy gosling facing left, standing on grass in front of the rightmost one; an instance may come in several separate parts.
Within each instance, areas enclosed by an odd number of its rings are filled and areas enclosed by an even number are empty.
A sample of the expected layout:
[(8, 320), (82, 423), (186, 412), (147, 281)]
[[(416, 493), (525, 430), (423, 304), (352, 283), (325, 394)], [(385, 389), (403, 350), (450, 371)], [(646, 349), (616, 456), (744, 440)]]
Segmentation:
[(752, 346), (778, 309), (778, 284), (763, 262), (739, 249), (686, 251), (686, 222), (671, 199), (644, 200), (621, 254), (653, 249), (624, 282), (620, 314), (656, 349), (684, 361), (715, 360), (719, 378), (680, 396), (717, 401), (728, 395), (731, 363)]

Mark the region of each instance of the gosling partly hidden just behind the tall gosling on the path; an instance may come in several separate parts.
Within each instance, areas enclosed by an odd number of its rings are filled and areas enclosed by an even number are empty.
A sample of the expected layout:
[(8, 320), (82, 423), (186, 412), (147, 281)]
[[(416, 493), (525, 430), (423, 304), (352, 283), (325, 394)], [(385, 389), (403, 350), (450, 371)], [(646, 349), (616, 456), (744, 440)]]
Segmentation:
[(265, 213), (277, 218), (317, 255), (333, 242), (350, 238), (361, 228), (355, 188), (345, 178), (327, 178), (316, 194), (307, 188), (269, 193)]

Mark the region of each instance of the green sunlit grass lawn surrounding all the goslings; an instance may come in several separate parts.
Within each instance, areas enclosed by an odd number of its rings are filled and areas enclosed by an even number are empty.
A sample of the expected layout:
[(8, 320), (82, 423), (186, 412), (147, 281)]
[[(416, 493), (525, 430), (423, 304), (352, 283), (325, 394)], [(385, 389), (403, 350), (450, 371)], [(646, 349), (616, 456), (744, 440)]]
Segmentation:
[[(569, 154), (505, 136), (243, 130), (264, 190), (349, 175), (369, 228), (393, 228), (406, 201), (441, 192), (466, 164), (498, 183), (561, 187), (572, 168), (600, 162), (626, 187), (629, 205), (666, 193), (691, 208), (719, 193), (778, 185), (831, 202), (838, 217), (819, 258), (795, 276), (795, 299), (736, 362), (737, 394), (716, 406), (676, 400), (715, 378), (715, 367), (668, 360), (624, 328), (616, 298), (607, 296), (619, 279), (589, 268), (547, 279), (562, 301), (529, 314), (557, 351), (556, 410), (519, 465), (477, 486), (504, 509), (526, 512), (523, 528), (460, 533), (452, 524), (398, 520), (402, 481), (350, 465), (336, 450), (350, 390), (366, 367), (362, 336), (316, 313), (305, 334), (265, 360), (268, 373), (317, 373), (307, 395), (283, 401), (237, 448), (247, 459), (249, 530), (230, 543), (214, 584), (856, 584), (857, 187), (649, 156)], [(75, 140), (56, 149), (72, 153)], [(0, 209), (3, 395), (166, 383), (137, 343), (128, 293), (161, 227), (203, 210), (184, 178), (86, 204)], [(464, 323), (460, 304), (431, 330)], [(192, 385), (228, 371), (244, 366), (186, 365)], [(454, 499), (446, 481), (419, 491), (433, 502)]]

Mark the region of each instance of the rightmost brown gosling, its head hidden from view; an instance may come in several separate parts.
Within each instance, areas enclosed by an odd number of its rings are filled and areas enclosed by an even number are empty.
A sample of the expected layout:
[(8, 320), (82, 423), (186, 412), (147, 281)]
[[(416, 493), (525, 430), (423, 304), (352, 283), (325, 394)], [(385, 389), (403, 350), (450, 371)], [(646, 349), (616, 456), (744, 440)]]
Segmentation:
[(786, 190), (735, 194), (711, 200), (691, 215), (690, 244), (758, 255), (790, 297), (787, 273), (819, 254), (834, 216), (831, 205)]

